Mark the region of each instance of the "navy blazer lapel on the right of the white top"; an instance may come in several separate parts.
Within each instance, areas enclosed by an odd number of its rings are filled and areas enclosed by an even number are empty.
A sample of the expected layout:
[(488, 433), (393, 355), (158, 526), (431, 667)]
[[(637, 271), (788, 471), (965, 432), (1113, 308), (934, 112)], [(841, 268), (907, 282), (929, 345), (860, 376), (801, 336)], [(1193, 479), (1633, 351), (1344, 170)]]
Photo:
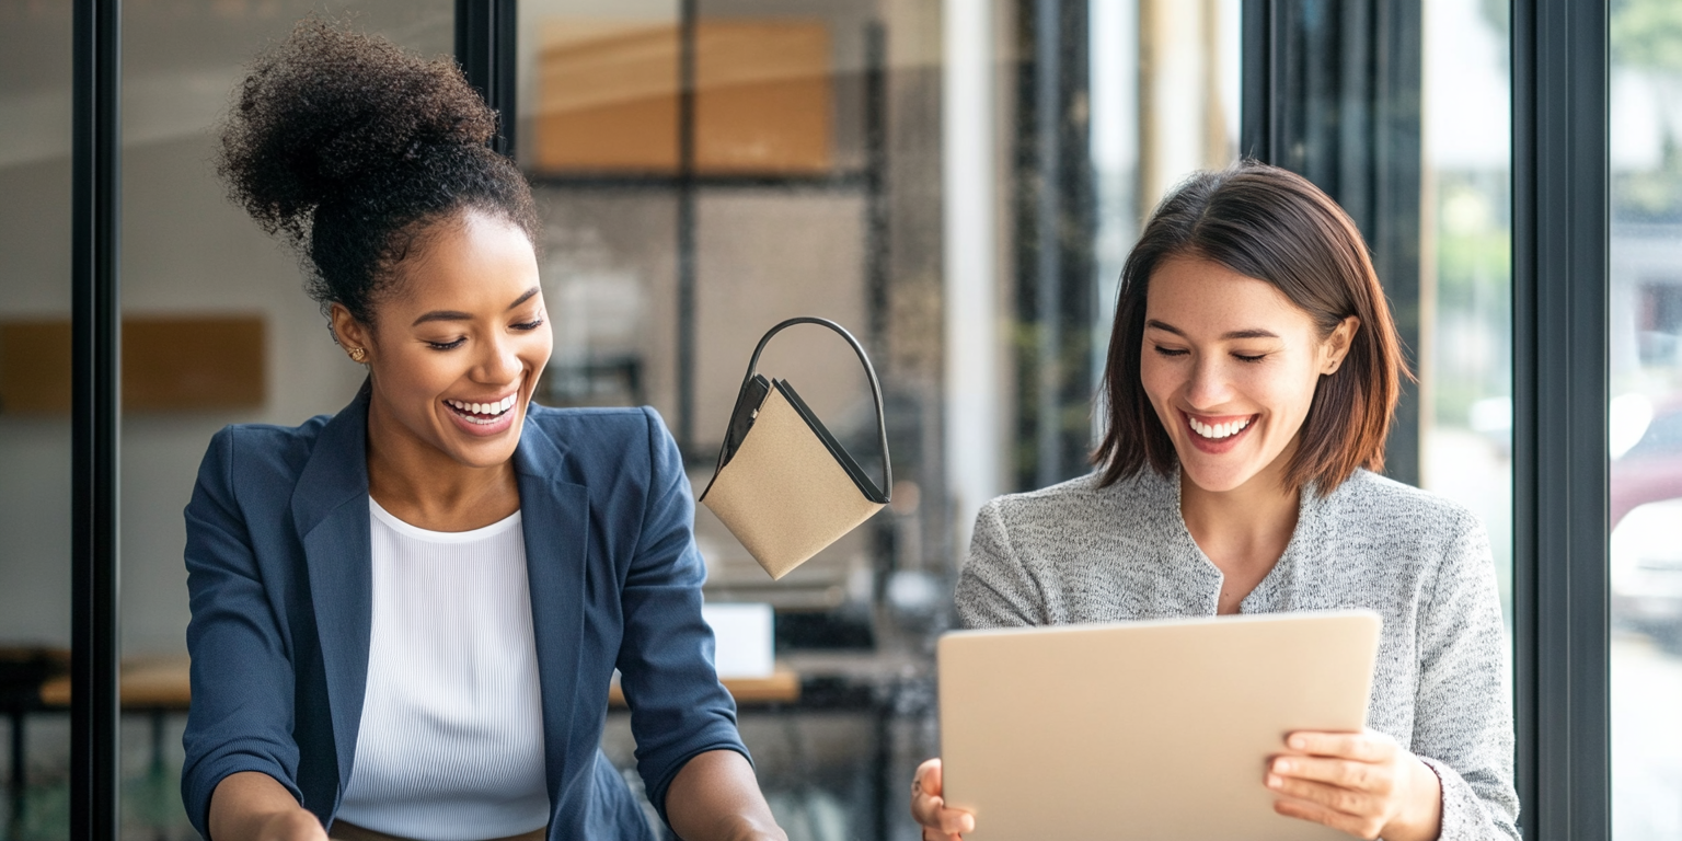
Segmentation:
[[(543, 695), (543, 757), (550, 802), (560, 802), (584, 648), (584, 587), (589, 558), (590, 496), (560, 481), (563, 452), (530, 417), (515, 451), (520, 528), (532, 589), (532, 634)], [(592, 710), (592, 715), (600, 710)]]

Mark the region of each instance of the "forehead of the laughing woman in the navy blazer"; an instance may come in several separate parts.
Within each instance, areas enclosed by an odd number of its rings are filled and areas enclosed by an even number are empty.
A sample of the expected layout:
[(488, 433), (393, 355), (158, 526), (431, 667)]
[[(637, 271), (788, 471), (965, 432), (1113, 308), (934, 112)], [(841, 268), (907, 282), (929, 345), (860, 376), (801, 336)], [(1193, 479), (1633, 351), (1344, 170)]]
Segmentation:
[(537, 252), (513, 222), (466, 212), (426, 232), (417, 252), (397, 266), (395, 311), (505, 309), (537, 286)]

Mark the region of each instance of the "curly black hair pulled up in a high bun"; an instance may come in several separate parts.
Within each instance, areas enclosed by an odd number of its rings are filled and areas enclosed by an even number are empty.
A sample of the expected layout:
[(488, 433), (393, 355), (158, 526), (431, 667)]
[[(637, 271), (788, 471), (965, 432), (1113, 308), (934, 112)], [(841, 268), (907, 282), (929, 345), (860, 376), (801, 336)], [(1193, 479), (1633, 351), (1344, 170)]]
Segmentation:
[(311, 17), (234, 91), (217, 172), (308, 254), (311, 296), (372, 323), (385, 269), (426, 224), (473, 207), (535, 232), (530, 185), (486, 146), (495, 133), (454, 61)]

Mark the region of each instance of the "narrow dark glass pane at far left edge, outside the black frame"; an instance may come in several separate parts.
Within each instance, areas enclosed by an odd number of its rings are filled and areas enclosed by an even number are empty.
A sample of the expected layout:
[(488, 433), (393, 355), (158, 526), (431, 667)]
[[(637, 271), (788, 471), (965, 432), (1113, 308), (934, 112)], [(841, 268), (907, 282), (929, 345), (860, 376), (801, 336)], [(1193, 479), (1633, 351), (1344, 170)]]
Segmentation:
[(69, 833), (71, 5), (0, 5), (0, 831)]

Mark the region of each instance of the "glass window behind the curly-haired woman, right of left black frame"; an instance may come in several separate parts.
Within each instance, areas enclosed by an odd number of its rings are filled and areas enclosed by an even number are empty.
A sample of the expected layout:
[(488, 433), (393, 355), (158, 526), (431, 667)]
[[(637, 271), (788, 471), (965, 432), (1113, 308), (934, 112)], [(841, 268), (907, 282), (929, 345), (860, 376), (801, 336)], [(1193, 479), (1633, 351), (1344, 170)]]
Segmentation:
[[(328, 336), (296, 257), (225, 198), (210, 163), (246, 64), (311, 10), (123, 10), (123, 833), (136, 838), (193, 838), (180, 799), (182, 508), (210, 436), (336, 412), (363, 377)], [(363, 0), (352, 20), (427, 56), (452, 50), (449, 0)]]

